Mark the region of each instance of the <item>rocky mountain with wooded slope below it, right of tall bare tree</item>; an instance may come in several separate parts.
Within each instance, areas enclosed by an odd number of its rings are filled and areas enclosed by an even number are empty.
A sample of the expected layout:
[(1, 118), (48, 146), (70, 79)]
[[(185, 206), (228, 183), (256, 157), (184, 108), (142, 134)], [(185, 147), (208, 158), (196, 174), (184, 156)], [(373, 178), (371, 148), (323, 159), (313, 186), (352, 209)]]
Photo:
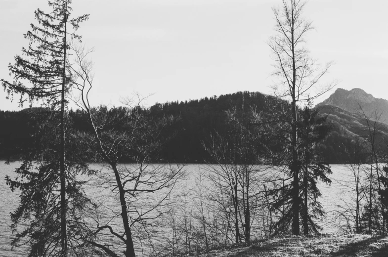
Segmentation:
[(383, 131), (379, 133), (377, 142), (382, 142), (383, 137), (388, 136), (387, 100), (375, 98), (360, 88), (338, 88), (328, 99), (316, 105), (320, 115), (327, 116), (332, 125), (326, 143), (321, 145), (321, 151), (329, 163), (347, 163), (349, 153), (353, 152), (354, 139), (367, 136), (366, 121), (360, 116), (360, 106), (372, 121), (375, 110), (381, 114), (378, 124)]

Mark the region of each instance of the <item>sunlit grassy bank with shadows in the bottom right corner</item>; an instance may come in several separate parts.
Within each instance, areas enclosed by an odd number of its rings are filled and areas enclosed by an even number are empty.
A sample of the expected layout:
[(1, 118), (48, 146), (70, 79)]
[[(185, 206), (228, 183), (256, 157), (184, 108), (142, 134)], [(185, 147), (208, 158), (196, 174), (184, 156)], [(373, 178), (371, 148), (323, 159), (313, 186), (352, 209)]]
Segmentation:
[(199, 257), (388, 257), (388, 237), (290, 236), (253, 243), (249, 247), (213, 250)]

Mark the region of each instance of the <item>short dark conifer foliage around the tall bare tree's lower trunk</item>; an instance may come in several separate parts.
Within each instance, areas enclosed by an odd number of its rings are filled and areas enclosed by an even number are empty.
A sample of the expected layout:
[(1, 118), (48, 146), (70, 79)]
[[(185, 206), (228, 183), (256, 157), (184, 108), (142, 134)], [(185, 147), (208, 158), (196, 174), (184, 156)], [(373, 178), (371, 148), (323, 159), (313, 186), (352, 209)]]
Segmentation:
[[(317, 145), (321, 143), (330, 131), (326, 124), (326, 117), (319, 118), (317, 110), (311, 110), (305, 107), (303, 110), (298, 109), (297, 120), (297, 161), (294, 163), (298, 171), (298, 202), (300, 208), (294, 213), (294, 184), (293, 172), (287, 173), (286, 183), (272, 190), (276, 201), (273, 203), (275, 213), (281, 213), (276, 223), (276, 233), (282, 232), (287, 227), (293, 227), (294, 217), (298, 217), (298, 223), (302, 224), (303, 234), (309, 232), (318, 232), (320, 227), (314, 222), (315, 218), (321, 218), (325, 213), (318, 198), (321, 193), (317, 187), (317, 181), (330, 184), (331, 180), (327, 175), (331, 174), (330, 166), (322, 160), (320, 153), (317, 151)], [(285, 129), (279, 130), (287, 130)], [(282, 135), (286, 140), (283, 144), (289, 148), (284, 156), (284, 165), (291, 162), (293, 155), (291, 145), (287, 138), (287, 132)], [(287, 181), (289, 181), (287, 183)]]

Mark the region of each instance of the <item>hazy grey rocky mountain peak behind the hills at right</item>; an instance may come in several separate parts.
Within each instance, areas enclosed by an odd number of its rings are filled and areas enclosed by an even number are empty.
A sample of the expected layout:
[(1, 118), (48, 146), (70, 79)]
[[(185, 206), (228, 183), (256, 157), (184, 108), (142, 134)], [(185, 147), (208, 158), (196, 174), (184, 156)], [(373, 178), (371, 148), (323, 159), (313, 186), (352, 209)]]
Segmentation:
[(321, 110), (325, 105), (340, 107), (352, 114), (357, 114), (361, 107), (367, 116), (371, 116), (377, 110), (381, 113), (380, 122), (388, 124), (388, 100), (375, 98), (360, 88), (351, 90), (338, 88), (316, 107)]

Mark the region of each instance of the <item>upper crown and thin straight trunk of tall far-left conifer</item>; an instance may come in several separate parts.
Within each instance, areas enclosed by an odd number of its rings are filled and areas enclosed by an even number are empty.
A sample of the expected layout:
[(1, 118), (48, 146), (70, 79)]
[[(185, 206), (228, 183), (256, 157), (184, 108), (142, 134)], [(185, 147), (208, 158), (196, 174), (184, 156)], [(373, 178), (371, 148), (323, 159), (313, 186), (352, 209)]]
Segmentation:
[[(24, 35), (25, 39), (29, 41), (29, 45), (27, 48), (23, 47), (22, 56), (16, 55), (15, 63), (8, 66), (10, 75), (13, 75), (13, 81), (1, 80), (4, 90), (8, 93), (8, 98), (12, 99), (14, 94), (20, 94), (20, 106), (23, 106), (26, 101), (30, 105), (34, 101), (38, 101), (60, 117), (58, 121), (60, 140), (55, 147), (58, 150), (59, 166), (55, 169), (59, 168), (60, 171), (60, 197), (57, 202), (60, 205), (61, 256), (67, 256), (68, 247), (66, 181), (69, 181), (70, 169), (65, 163), (65, 109), (66, 93), (71, 89), (72, 79), (67, 57), (70, 49), (69, 42), (81, 39), (75, 32), (79, 28), (79, 24), (88, 18), (88, 15), (71, 18), (71, 3), (71, 0), (49, 0), (48, 5), (52, 9), (50, 13), (41, 9), (35, 11), (35, 19), (38, 24), (31, 24), (31, 30)], [(41, 168), (42, 166), (39, 169)], [(21, 176), (31, 172), (31, 169), (33, 169), (32, 166), (24, 167), (20, 171), (22, 172)], [(23, 186), (19, 185), (19, 187), (22, 190), (27, 190)], [(47, 192), (47, 194), (50, 193)], [(29, 197), (29, 195), (27, 194), (25, 197)], [(31, 201), (34, 200), (36, 199), (31, 199)], [(21, 213), (17, 215), (19, 218), (22, 217)], [(31, 229), (27, 233), (36, 236), (36, 228)], [(43, 241), (32, 243), (40, 244), (44, 248), (48, 238), (41, 238), (41, 240)], [(36, 253), (36, 255), (41, 254), (39, 251)], [(32, 255), (34, 256), (34, 254)]]

